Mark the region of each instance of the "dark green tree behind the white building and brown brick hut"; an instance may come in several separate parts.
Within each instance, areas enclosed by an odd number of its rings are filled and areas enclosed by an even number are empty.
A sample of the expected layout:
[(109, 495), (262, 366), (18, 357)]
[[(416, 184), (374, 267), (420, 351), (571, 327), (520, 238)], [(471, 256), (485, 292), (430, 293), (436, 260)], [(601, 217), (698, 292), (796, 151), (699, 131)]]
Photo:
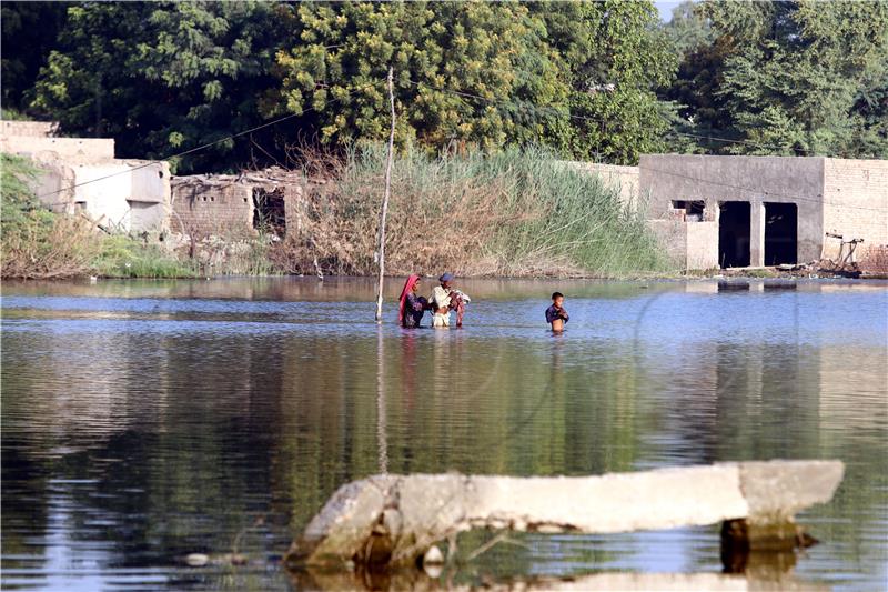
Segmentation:
[(63, 131), (114, 137), (122, 157), (163, 158), (218, 142), (173, 165), (246, 160), (249, 139), (225, 137), (261, 120), (258, 97), (274, 83), (270, 67), (286, 10), (264, 2), (71, 7), (33, 107)]

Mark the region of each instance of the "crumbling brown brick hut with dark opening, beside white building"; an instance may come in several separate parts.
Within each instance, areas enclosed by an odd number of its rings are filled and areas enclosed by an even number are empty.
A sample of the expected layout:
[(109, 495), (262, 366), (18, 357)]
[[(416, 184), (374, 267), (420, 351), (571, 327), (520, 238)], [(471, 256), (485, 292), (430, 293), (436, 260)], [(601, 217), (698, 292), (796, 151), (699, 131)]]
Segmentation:
[(204, 239), (246, 238), (262, 229), (282, 238), (305, 220), (301, 173), (272, 168), (260, 172), (195, 174), (172, 179), (172, 229)]

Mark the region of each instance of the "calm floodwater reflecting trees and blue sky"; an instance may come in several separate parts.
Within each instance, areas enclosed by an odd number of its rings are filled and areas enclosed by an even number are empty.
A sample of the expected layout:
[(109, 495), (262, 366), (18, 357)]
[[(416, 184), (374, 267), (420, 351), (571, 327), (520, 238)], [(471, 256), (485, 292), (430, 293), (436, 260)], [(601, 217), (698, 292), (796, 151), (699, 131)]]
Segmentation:
[[(7, 282), (2, 586), (311, 584), (280, 568), (292, 536), (386, 470), (775, 458), (847, 464), (834, 500), (798, 516), (821, 543), (776, 578), (888, 584), (888, 284), (466, 281), (464, 329), (404, 331), (398, 283), (377, 328), (364, 280)], [(554, 289), (562, 335), (543, 323)], [(185, 565), (194, 552), (210, 564)], [(442, 585), (710, 589), (722, 569), (717, 526), (537, 534)]]

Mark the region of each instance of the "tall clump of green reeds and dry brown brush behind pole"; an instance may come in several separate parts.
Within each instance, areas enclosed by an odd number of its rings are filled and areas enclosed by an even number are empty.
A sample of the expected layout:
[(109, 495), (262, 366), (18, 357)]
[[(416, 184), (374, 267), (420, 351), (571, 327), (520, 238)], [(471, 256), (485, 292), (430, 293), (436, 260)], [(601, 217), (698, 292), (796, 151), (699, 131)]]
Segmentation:
[[(309, 223), (274, 250), (280, 269), (372, 274), (384, 147), (336, 160), (312, 155), (337, 182), (314, 185)], [(392, 274), (627, 277), (667, 262), (618, 191), (535, 149), (395, 160), (386, 270)]]

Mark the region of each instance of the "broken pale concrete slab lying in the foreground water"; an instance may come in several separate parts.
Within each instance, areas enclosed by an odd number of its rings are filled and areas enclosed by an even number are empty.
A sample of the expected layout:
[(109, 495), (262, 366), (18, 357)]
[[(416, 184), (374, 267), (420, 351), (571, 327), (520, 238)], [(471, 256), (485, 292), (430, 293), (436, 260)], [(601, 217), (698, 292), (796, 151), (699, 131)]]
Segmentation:
[(794, 515), (829, 501), (844, 470), (770, 461), (581, 478), (376, 475), (340, 488), (285, 561), (410, 565), (474, 528), (610, 533), (719, 522), (728, 554), (791, 550), (806, 542)]

